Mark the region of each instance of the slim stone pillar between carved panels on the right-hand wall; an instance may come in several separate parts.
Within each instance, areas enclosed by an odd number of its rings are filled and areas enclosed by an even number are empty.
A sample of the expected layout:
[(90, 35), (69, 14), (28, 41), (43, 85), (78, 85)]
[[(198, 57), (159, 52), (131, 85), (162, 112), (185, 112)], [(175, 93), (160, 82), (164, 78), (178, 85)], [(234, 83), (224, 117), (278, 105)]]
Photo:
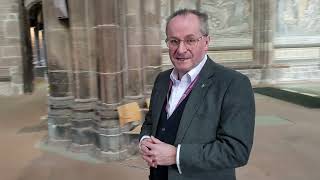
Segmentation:
[(261, 80), (270, 78), (270, 65), (274, 59), (275, 0), (257, 0), (253, 3), (253, 57), (262, 67)]

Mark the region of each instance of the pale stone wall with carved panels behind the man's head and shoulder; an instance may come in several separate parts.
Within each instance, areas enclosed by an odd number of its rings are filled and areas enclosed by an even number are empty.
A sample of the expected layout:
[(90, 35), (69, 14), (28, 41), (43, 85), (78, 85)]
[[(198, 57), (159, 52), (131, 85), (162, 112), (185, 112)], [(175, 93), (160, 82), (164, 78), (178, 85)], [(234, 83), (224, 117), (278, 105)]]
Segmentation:
[(320, 80), (319, 0), (161, 0), (163, 69), (165, 18), (180, 8), (208, 13), (209, 56), (254, 85)]

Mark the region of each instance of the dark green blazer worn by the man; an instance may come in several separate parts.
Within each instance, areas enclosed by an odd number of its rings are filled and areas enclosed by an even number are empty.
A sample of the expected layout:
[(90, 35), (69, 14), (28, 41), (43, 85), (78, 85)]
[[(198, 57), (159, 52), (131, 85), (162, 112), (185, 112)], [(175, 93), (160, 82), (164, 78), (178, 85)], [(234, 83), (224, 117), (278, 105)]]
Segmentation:
[[(140, 138), (156, 134), (171, 70), (155, 81)], [(249, 79), (209, 57), (185, 106), (174, 145), (181, 144), (180, 167), (169, 180), (234, 180), (248, 162), (254, 136), (255, 103)]]

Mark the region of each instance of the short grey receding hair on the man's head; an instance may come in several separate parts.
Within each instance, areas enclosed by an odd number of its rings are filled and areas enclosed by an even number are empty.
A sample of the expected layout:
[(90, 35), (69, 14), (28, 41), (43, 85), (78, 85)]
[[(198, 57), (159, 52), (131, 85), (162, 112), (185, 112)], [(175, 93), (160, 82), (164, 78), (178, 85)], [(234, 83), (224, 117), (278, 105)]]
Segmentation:
[(167, 18), (166, 32), (169, 22), (176, 16), (196, 15), (200, 21), (200, 32), (202, 35), (209, 35), (208, 15), (195, 9), (179, 9)]

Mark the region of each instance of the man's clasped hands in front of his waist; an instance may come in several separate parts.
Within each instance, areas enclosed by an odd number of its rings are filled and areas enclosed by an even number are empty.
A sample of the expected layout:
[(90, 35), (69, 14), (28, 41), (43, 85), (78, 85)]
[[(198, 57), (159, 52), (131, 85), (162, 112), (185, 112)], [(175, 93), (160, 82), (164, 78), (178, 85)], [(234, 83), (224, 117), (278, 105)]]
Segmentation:
[(157, 168), (158, 165), (176, 164), (177, 148), (171, 144), (164, 143), (151, 136), (143, 139), (139, 147), (142, 159), (148, 163), (149, 167)]

